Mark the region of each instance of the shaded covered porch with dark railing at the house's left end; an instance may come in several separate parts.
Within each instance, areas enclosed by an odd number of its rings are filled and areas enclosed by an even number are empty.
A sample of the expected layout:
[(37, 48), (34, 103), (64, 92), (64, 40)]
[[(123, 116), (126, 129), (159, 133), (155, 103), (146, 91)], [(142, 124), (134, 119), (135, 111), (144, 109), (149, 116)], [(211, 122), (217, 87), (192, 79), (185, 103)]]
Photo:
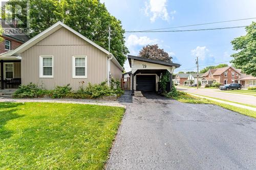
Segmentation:
[(21, 83), (20, 58), (0, 56), (0, 89), (16, 89)]

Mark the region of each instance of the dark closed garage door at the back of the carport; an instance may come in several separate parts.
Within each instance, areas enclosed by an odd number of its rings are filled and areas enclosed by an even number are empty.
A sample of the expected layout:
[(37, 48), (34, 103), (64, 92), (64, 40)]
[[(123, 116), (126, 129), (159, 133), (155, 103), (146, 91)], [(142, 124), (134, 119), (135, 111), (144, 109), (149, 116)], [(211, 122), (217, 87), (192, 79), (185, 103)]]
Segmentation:
[(156, 76), (155, 75), (137, 75), (136, 90), (139, 91), (156, 91)]

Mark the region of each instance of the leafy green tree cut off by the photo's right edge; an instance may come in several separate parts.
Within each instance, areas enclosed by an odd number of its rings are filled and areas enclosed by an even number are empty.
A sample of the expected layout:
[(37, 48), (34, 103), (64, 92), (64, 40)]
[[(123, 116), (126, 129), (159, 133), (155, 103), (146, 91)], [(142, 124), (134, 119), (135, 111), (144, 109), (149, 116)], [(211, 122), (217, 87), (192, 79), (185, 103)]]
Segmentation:
[(246, 27), (245, 36), (235, 38), (231, 43), (233, 50), (238, 51), (231, 55), (233, 65), (242, 68), (247, 75), (256, 77), (256, 22)]

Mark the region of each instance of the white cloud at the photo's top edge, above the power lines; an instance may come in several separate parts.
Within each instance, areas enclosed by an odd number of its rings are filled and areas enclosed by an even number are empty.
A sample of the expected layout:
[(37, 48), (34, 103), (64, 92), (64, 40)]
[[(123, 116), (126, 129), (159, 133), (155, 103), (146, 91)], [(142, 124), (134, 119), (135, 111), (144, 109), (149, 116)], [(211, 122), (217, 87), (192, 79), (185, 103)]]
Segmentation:
[(146, 16), (151, 16), (151, 22), (155, 22), (157, 18), (166, 21), (169, 20), (170, 17), (166, 8), (166, 3), (167, 0), (148, 0), (148, 2), (145, 2), (144, 13)]

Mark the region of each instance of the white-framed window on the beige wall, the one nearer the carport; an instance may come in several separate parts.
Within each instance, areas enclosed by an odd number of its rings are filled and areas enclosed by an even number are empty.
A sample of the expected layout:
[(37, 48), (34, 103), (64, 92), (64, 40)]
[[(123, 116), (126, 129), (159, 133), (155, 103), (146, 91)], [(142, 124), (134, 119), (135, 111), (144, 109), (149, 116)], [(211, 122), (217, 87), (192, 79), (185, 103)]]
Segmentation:
[(87, 56), (73, 56), (73, 78), (87, 78)]

